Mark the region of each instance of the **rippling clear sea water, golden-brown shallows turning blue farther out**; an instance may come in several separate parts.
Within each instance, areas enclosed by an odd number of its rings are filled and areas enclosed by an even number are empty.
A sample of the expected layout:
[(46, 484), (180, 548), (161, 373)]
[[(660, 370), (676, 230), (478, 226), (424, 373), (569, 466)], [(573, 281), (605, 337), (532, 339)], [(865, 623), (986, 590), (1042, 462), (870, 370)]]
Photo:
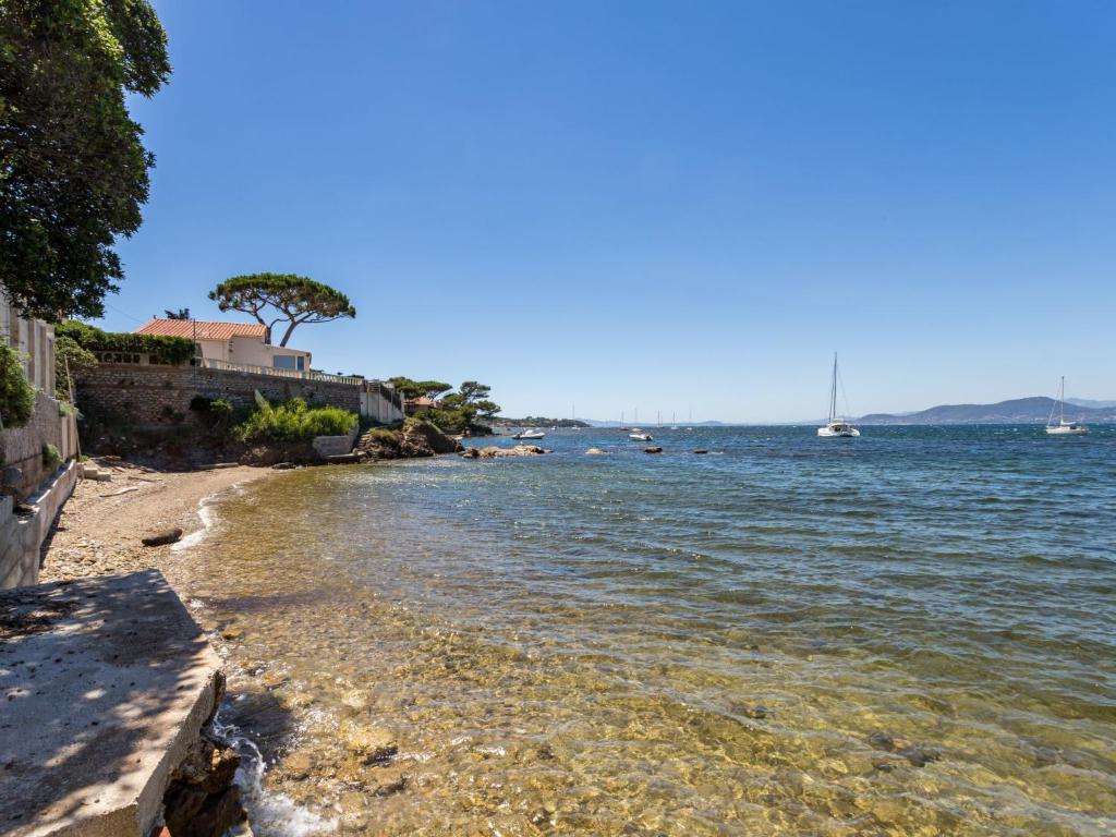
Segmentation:
[(1116, 430), (655, 435), (218, 503), (176, 581), (271, 790), (367, 834), (1116, 833)]

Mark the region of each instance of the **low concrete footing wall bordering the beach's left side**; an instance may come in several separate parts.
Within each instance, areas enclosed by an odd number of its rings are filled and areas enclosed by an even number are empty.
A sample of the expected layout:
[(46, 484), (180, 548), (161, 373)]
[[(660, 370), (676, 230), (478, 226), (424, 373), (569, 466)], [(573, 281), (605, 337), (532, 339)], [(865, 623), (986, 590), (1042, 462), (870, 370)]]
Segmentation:
[(0, 497), (0, 588), (38, 583), (42, 541), (76, 482), (77, 463), (70, 462), (27, 499), (30, 514), (13, 513), (12, 499)]

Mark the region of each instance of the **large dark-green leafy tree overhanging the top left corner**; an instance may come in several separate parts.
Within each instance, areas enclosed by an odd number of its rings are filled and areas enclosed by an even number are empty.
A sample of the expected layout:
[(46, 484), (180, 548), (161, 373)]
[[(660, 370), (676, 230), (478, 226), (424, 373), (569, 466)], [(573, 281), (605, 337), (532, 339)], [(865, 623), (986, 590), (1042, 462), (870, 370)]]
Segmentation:
[(170, 74), (148, 0), (0, 2), (0, 285), (25, 316), (104, 312), (154, 165), (126, 96)]

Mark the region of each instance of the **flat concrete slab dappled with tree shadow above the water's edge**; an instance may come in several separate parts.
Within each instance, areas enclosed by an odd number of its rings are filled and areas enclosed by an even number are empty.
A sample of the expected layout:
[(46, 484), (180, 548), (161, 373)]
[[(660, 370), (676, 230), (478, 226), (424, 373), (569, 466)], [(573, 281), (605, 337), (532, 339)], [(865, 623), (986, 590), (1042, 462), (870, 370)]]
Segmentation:
[(0, 591), (0, 834), (146, 837), (220, 668), (157, 570)]

